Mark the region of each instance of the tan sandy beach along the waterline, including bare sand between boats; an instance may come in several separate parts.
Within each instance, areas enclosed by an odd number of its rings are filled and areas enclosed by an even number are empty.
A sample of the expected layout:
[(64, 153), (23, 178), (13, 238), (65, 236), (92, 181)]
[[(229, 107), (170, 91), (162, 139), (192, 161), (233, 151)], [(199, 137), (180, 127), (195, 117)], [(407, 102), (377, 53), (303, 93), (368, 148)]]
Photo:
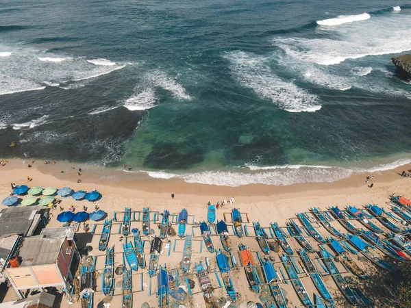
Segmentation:
[[(29, 161), (31, 163), (31, 161)], [(210, 201), (212, 204), (223, 199), (229, 200), (234, 196), (234, 205), (226, 205), (223, 209), (216, 211), (217, 220), (223, 219), (223, 213), (229, 213), (232, 207), (240, 209), (242, 214), (247, 214), (249, 223), (246, 223), (249, 229), (250, 237), (238, 239), (232, 238), (233, 242), (233, 254), (237, 254), (238, 244), (246, 244), (251, 251), (260, 251), (260, 248), (253, 237), (253, 221), (260, 221), (262, 227), (269, 227), (270, 222), (278, 222), (280, 226), (284, 226), (286, 220), (289, 218), (295, 218), (295, 214), (301, 211), (308, 211), (311, 207), (317, 207), (320, 209), (326, 209), (332, 205), (338, 205), (339, 207), (345, 207), (347, 205), (354, 205), (361, 207), (369, 203), (387, 206), (389, 202), (389, 195), (395, 193), (404, 196), (411, 196), (411, 179), (400, 177), (399, 174), (402, 170), (408, 170), (411, 165), (401, 166), (394, 170), (386, 170), (383, 172), (354, 175), (348, 179), (336, 181), (333, 183), (304, 183), (295, 184), (289, 186), (271, 186), (271, 185), (245, 185), (236, 188), (216, 185), (202, 185), (185, 183), (179, 179), (134, 179), (132, 174), (123, 172), (122, 170), (109, 170), (109, 169), (88, 169), (79, 164), (71, 164), (67, 162), (57, 162), (56, 164), (44, 164), (44, 162), (36, 161), (32, 164), (32, 168), (27, 167), (28, 160), (23, 162), (22, 159), (11, 159), (5, 166), (0, 167), (0, 193), (2, 198), (8, 196), (10, 192), (10, 183), (16, 183), (17, 185), (26, 184), (29, 187), (40, 185), (42, 187), (55, 186), (61, 188), (63, 186), (69, 186), (73, 190), (93, 190), (96, 189), (103, 195), (97, 205), (108, 213), (108, 218), (113, 217), (114, 211), (123, 211), (125, 207), (132, 207), (133, 211), (142, 211), (143, 207), (149, 207), (151, 212), (162, 212), (164, 209), (169, 209), (171, 214), (178, 214), (182, 208), (188, 210), (190, 216), (195, 216), (195, 221), (203, 221), (207, 218), (207, 203)], [(82, 168), (81, 183), (77, 183), (79, 178), (77, 174), (78, 168)], [(61, 173), (61, 170), (64, 173)], [(374, 183), (373, 188), (369, 188), (366, 183), (366, 177), (373, 176), (371, 180)], [(32, 178), (32, 181), (27, 183), (27, 177)], [(370, 182), (370, 183), (371, 183)], [(175, 198), (171, 198), (171, 192), (174, 192)], [(88, 207), (88, 211), (94, 210), (95, 203), (88, 201), (74, 201), (73, 198), (62, 198), (60, 204), (64, 207), (64, 210), (68, 210), (70, 205), (73, 205), (76, 211), (82, 210), (83, 206)], [(1, 205), (3, 207), (3, 205)], [(47, 227), (59, 227), (62, 223), (58, 222), (55, 218), (60, 213), (59, 207), (51, 212), (51, 221)], [(119, 218), (122, 219), (122, 214), (119, 214)], [(152, 217), (151, 217), (152, 219)], [(189, 218), (189, 220), (192, 218)], [(358, 223), (358, 222), (357, 222)], [(334, 227), (340, 232), (346, 233), (345, 229), (333, 222)], [(92, 227), (92, 222), (90, 222)], [(112, 233), (110, 237), (109, 246), (115, 246), (115, 252), (119, 253), (115, 257), (116, 264), (123, 262), (121, 252), (123, 251), (121, 245), (120, 234), (118, 234), (118, 225), (114, 224), (112, 227)], [(141, 222), (132, 222), (132, 228), (141, 228)], [(173, 226), (175, 229), (177, 226)], [(155, 233), (158, 233), (157, 227), (151, 225), (152, 229), (155, 229)], [(84, 236), (83, 228), (80, 227), (78, 237), (82, 239), (88, 239), (77, 242), (79, 248), (81, 246), (91, 245), (93, 247), (92, 255), (97, 256), (97, 270), (102, 270), (104, 267), (105, 253), (98, 251), (99, 235)], [(191, 269), (194, 267), (195, 262), (202, 260), (204, 257), (208, 257), (210, 260), (210, 267), (212, 272), (217, 269), (215, 255), (208, 253), (206, 248), (203, 248), (200, 253), (200, 231), (198, 228), (187, 228), (187, 233), (190, 234), (194, 231), (193, 237), (195, 241), (193, 244), (193, 253), (191, 259)], [(230, 229), (231, 230), (231, 229)], [(101, 222), (97, 225), (96, 233), (101, 231)], [(330, 236), (329, 233), (323, 228), (319, 228), (319, 231), (324, 236)], [(178, 237), (169, 238), (170, 242), (165, 240), (163, 245), (164, 252), (160, 256), (160, 264), (166, 264), (168, 270), (180, 269), (182, 260), (182, 251), (184, 247), (184, 240), (175, 240)], [(129, 238), (132, 240), (132, 236)], [(145, 239), (148, 240), (148, 239)], [(88, 241), (88, 242), (87, 242)], [(294, 240), (290, 240), (291, 246), (295, 249), (300, 246)], [(311, 244), (315, 245), (315, 242), (311, 239)], [(169, 245), (171, 246), (169, 248)], [(175, 248), (174, 248), (175, 245)], [(214, 245), (216, 248), (221, 248), (219, 238), (214, 238)], [(169, 253), (169, 249), (171, 253)], [(272, 253), (275, 257), (275, 266), (279, 266), (279, 254)], [(149, 243), (145, 244), (146, 260), (149, 258)], [(238, 255), (237, 259), (238, 259)], [(341, 268), (341, 272), (345, 270)], [(141, 274), (142, 273), (142, 274)], [(180, 276), (181, 276), (180, 270)], [(247, 279), (245, 277), (244, 270), (234, 271), (232, 273), (236, 291), (242, 296), (241, 302), (247, 303), (249, 300), (254, 302), (260, 302), (258, 296), (249, 290)], [(119, 283), (120, 287), (116, 287), (114, 292), (114, 298), (112, 300), (112, 307), (121, 307), (121, 277), (116, 278), (116, 285)], [(214, 273), (210, 274), (212, 285), (216, 287), (214, 290), (214, 298), (226, 297), (225, 289), (219, 287)], [(193, 292), (197, 293), (192, 298), (188, 297), (188, 300), (184, 305), (187, 307), (206, 307), (206, 304), (202, 298), (201, 292), (197, 285), (197, 279), (195, 276), (190, 279), (196, 282), (196, 287)], [(301, 278), (310, 298), (312, 294), (318, 293), (315, 290), (314, 284), (310, 280), (310, 277)], [(97, 292), (95, 292), (95, 306), (104, 297), (99, 290), (101, 278), (97, 280)], [(331, 277), (324, 277), (325, 284), (329, 288), (329, 291), (335, 298), (341, 298), (336, 285), (332, 282)], [(149, 283), (150, 279), (147, 274), (147, 270), (138, 271), (133, 276), (133, 291), (134, 291), (134, 305), (133, 307), (140, 307), (144, 302), (149, 303), (150, 307), (158, 306), (158, 298), (155, 296), (157, 287), (156, 279), (151, 281), (151, 296), (149, 296)], [(185, 285), (180, 282), (181, 285)], [(143, 287), (143, 290), (141, 289)], [(292, 290), (291, 285), (282, 283), (281, 285), (286, 290), (286, 298), (289, 300), (289, 307), (301, 307), (301, 303)], [(337, 307), (340, 307), (341, 302), (337, 302)], [(61, 307), (69, 307), (66, 303), (66, 299), (62, 299)], [(73, 304), (70, 307), (80, 307), (79, 303)]]

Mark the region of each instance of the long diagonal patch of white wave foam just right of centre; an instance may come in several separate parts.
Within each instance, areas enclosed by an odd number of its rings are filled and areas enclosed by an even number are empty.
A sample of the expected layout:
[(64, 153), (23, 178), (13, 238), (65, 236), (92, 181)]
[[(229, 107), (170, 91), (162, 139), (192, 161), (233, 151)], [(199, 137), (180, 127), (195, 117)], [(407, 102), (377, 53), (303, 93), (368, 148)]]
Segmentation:
[(264, 61), (264, 57), (233, 51), (224, 56), (231, 62), (234, 78), (259, 97), (270, 99), (288, 112), (315, 112), (321, 109), (318, 97), (299, 88), (291, 81), (283, 81), (275, 75)]

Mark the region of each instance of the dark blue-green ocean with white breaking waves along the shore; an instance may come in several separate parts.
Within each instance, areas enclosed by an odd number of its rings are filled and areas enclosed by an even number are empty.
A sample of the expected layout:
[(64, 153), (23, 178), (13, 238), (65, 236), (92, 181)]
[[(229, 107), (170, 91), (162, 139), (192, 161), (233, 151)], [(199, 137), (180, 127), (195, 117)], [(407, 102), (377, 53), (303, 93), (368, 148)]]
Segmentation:
[(3, 0), (0, 155), (233, 186), (409, 163), (411, 5), (357, 2)]

